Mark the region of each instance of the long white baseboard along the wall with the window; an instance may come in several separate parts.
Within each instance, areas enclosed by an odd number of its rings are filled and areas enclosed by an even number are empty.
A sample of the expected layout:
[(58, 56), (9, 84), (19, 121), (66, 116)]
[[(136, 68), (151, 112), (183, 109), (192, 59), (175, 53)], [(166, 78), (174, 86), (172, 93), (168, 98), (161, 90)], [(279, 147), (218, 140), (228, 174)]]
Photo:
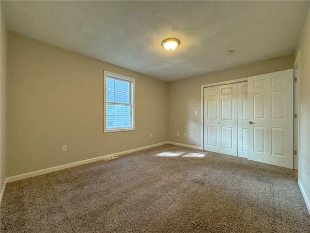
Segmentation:
[[(83, 165), (83, 164), (88, 164), (88, 163), (96, 162), (96, 161), (99, 161), (99, 160), (108, 159), (108, 158), (111, 158), (111, 157), (115, 157), (115, 156), (120, 156), (120, 155), (123, 155), (123, 154), (128, 154), (128, 153), (136, 152), (136, 151), (139, 151), (139, 150), (145, 150), (145, 149), (149, 149), (149, 148), (152, 148), (152, 147), (157, 147), (157, 146), (161, 146), (161, 145), (165, 145), (165, 144), (168, 144), (168, 142), (162, 142), (162, 143), (153, 144), (153, 145), (145, 146), (145, 147), (140, 147), (140, 148), (136, 148), (136, 149), (132, 149), (132, 150), (125, 150), (125, 151), (117, 152), (117, 153), (114, 153), (114, 154), (103, 155), (103, 156), (100, 156), (100, 157), (96, 157), (96, 158), (92, 158), (92, 159), (86, 159), (86, 160), (82, 160), (82, 161), (78, 161), (78, 162), (74, 162), (74, 163), (70, 163), (70, 164), (64, 164), (64, 165), (60, 165), (60, 166), (49, 167), (49, 168), (38, 170), (38, 171), (31, 171), (31, 172), (28, 172), (28, 173), (7, 177), (5, 179), (5, 181), (6, 181), (6, 183), (10, 183), (10, 182), (14, 182), (14, 181), (19, 181), (19, 180), (23, 180), (23, 179), (30, 178), (30, 177), (33, 177), (33, 176), (43, 175), (43, 174), (46, 174), (46, 173), (49, 173), (49, 172), (59, 171), (59, 170), (65, 169), (65, 168), (73, 167), (73, 166), (79, 166), (79, 165)], [(2, 191), (3, 190), (1, 190), (1, 195), (2, 195)]]

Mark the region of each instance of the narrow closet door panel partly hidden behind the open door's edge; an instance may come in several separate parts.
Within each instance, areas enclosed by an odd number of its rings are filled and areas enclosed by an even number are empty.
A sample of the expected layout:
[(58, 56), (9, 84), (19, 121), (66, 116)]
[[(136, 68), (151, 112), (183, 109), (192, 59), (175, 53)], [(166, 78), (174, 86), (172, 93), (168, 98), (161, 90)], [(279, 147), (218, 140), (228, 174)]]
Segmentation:
[(238, 156), (248, 158), (248, 82), (238, 83)]

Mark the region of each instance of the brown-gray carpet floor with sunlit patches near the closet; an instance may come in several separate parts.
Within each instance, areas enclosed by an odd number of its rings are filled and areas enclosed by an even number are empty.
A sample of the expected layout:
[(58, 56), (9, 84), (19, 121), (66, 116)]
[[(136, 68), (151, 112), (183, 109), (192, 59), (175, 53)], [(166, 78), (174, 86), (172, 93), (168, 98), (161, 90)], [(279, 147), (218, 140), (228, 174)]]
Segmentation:
[(1, 233), (310, 233), (294, 170), (163, 145), (8, 183)]

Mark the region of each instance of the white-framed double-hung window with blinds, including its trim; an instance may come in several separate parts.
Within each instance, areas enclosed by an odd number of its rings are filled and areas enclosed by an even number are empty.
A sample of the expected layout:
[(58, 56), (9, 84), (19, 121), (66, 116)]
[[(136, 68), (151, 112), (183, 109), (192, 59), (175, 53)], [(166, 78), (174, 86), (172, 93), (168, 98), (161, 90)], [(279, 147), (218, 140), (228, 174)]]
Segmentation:
[(135, 130), (135, 79), (104, 71), (104, 133)]

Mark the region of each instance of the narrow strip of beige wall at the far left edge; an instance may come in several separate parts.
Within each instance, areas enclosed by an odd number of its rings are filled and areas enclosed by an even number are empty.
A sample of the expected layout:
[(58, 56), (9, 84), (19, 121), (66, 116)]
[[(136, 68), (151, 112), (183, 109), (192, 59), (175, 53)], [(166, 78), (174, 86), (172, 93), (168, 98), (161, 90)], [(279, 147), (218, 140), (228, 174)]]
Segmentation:
[[(1, 12), (1, 9), (0, 9)], [(6, 28), (0, 16), (0, 193), (6, 178)]]

